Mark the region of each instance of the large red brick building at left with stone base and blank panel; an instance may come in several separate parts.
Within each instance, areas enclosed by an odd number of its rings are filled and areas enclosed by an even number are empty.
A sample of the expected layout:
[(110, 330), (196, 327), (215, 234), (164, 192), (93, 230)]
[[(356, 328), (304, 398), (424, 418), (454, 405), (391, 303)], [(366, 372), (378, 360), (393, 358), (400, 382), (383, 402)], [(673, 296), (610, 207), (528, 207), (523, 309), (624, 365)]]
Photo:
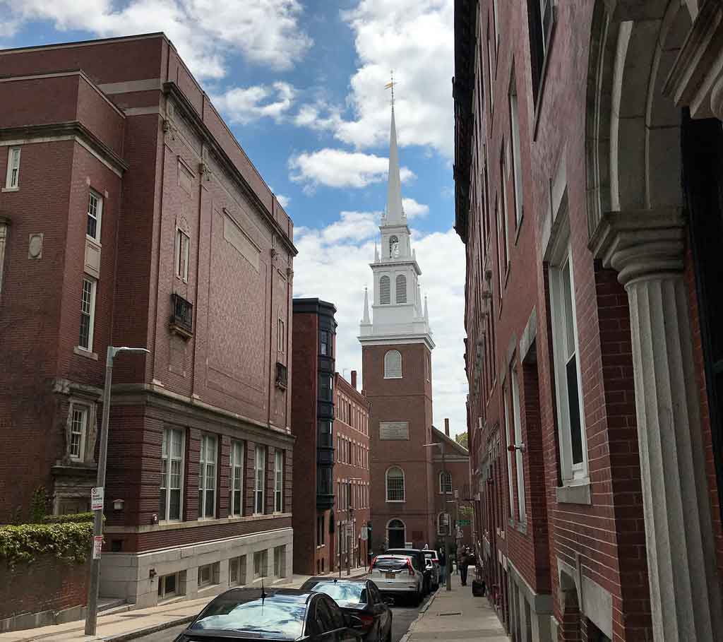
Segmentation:
[[(0, 51), (0, 520), (87, 510), (100, 593), (286, 575), (293, 225), (160, 33)], [(243, 304), (241, 304), (243, 301)]]

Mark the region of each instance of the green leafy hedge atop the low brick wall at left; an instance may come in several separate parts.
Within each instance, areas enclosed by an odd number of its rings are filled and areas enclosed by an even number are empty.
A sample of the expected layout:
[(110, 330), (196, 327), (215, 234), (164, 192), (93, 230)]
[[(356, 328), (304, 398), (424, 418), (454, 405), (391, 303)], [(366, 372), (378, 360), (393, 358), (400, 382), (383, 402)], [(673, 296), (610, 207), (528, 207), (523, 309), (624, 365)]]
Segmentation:
[(40, 555), (82, 564), (90, 552), (92, 536), (90, 521), (0, 526), (0, 558), (8, 566), (32, 562)]

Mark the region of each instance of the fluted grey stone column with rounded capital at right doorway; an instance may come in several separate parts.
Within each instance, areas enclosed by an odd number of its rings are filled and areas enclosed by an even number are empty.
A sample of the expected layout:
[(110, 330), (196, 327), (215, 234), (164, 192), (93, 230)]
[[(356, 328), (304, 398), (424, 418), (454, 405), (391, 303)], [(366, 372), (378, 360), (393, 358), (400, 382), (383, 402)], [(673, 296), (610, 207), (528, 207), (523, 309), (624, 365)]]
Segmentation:
[[(608, 213), (591, 245), (628, 291), (654, 639), (723, 631), (679, 210)], [(623, 560), (624, 561), (624, 560)]]

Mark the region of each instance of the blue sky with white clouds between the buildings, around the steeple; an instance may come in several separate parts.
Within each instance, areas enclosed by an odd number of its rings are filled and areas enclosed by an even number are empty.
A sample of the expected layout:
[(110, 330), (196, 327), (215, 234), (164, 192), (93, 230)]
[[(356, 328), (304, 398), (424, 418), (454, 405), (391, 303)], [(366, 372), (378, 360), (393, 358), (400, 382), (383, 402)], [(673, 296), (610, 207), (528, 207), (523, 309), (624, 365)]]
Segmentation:
[[(294, 220), (294, 296), (332, 301), (336, 367), (361, 377), (388, 171), (429, 300), (434, 423), (466, 430), (464, 248), (453, 230), (453, 0), (0, 0), (0, 48), (163, 31)], [(1, 73), (1, 71), (0, 71)]]

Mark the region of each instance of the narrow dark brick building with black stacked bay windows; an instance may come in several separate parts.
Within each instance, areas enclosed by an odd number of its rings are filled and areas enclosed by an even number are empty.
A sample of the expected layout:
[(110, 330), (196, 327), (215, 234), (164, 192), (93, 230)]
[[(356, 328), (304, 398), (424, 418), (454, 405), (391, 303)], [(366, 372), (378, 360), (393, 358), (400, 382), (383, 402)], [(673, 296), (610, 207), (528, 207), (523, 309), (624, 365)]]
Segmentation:
[(333, 304), (294, 299), (294, 391), (291, 431), (294, 464), (294, 572), (326, 573), (334, 564), (334, 364)]

